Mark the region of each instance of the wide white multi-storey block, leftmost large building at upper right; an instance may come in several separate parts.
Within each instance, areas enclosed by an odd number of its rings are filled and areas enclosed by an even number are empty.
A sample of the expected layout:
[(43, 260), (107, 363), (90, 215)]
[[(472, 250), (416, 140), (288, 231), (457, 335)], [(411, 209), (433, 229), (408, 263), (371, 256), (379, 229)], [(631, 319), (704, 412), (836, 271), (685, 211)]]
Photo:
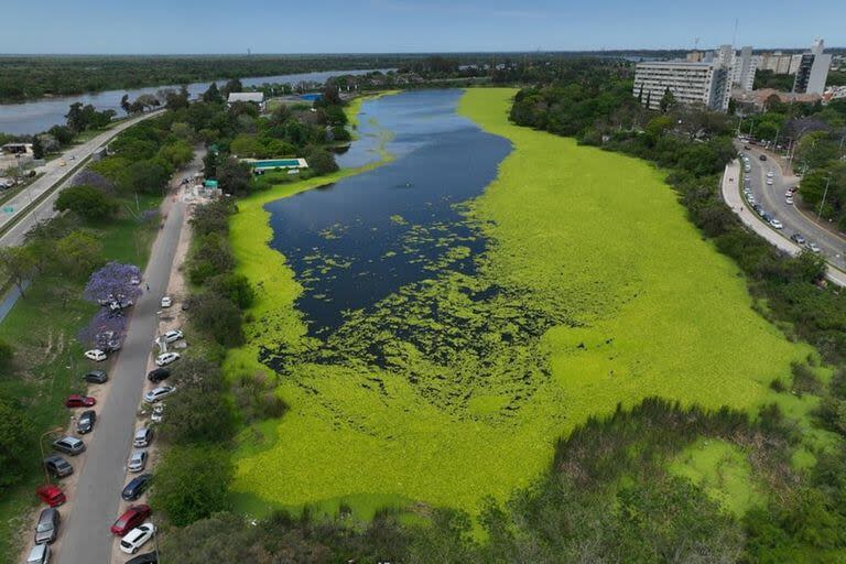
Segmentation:
[[(633, 96), (650, 109), (660, 109), (661, 98), (670, 89), (680, 104), (701, 104), (726, 111), (731, 94), (731, 67), (720, 62), (729, 57), (720, 52), (709, 62), (655, 61), (638, 63)], [(734, 58), (734, 54), (731, 55)]]

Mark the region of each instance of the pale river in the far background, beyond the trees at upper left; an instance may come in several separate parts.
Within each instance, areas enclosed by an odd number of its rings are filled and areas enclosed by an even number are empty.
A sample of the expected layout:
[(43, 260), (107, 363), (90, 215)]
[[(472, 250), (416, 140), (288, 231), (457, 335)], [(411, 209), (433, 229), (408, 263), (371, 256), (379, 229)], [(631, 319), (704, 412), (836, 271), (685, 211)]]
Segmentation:
[[(302, 73), (294, 75), (278, 76), (258, 76), (241, 78), (243, 86), (260, 86), (262, 84), (297, 84), (303, 82), (324, 83), (327, 78), (338, 75), (362, 75), (371, 73), (375, 69), (367, 70), (325, 70), (319, 73)], [(379, 69), (387, 72), (389, 69)], [(217, 80), (218, 86), (226, 84), (226, 79)], [(194, 83), (188, 85), (188, 91), (192, 97), (206, 91), (210, 82)], [(124, 94), (129, 94), (129, 99), (134, 100), (142, 94), (155, 94), (162, 88), (178, 88), (180, 86), (151, 86), (148, 88), (135, 88), (131, 90), (107, 90), (102, 93), (85, 94), (80, 96), (63, 96), (55, 98), (45, 98), (40, 100), (25, 101), (21, 104), (1, 104), (0, 105), (0, 132), (12, 133), (15, 135), (40, 133), (46, 131), (53, 126), (65, 123), (65, 113), (68, 107), (74, 102), (93, 104), (98, 110), (115, 110), (118, 116), (123, 115), (120, 108), (120, 99)]]

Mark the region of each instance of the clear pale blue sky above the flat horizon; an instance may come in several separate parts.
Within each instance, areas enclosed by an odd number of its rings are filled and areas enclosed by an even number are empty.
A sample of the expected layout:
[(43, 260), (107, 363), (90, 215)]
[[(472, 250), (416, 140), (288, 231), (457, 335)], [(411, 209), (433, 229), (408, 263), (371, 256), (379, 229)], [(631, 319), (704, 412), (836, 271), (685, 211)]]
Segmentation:
[(846, 46), (846, 0), (0, 0), (0, 53)]

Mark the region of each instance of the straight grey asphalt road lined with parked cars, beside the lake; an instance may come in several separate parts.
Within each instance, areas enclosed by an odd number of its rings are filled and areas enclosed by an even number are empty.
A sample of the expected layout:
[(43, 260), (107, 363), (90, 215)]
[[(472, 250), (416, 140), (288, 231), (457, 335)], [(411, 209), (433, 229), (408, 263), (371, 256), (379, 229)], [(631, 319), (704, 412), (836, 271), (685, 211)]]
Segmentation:
[[(193, 174), (202, 166), (202, 154), (198, 153), (189, 172), (182, 171), (174, 177)], [(150, 291), (144, 292), (135, 303), (123, 347), (111, 367), (111, 389), (102, 401), (97, 429), (87, 441), (87, 459), (80, 470), (73, 509), (64, 520), (65, 530), (56, 558), (59, 564), (111, 562), (115, 536), (109, 527), (118, 517), (120, 492), (128, 481), (126, 464), (132, 446), (151, 344), (158, 330), (156, 312), (174, 268), (173, 259), (186, 213), (185, 204), (174, 199), (169, 197), (163, 206), (167, 219), (153, 245), (144, 271), (144, 283)]]

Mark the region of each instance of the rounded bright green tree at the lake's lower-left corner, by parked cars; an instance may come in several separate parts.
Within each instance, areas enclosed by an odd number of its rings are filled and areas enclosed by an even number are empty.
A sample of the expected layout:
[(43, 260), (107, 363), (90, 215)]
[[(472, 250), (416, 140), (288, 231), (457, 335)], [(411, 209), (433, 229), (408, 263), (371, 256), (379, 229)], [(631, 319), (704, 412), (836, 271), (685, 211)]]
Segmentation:
[(167, 449), (155, 473), (151, 505), (164, 511), (172, 524), (188, 525), (229, 508), (232, 476), (232, 465), (224, 449)]

